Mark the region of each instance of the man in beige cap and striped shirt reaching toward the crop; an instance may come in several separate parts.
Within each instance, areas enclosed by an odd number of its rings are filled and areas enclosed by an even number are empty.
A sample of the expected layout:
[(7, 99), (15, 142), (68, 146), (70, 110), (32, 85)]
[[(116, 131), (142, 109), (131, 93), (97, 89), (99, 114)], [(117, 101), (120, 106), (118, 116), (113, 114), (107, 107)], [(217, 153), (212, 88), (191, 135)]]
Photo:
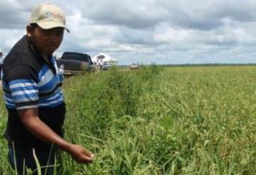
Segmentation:
[[(69, 32), (65, 14), (57, 6), (36, 6), (27, 34), (4, 61), (2, 83), (8, 111), (4, 136), (9, 143), (9, 162), (20, 174), (24, 166), (36, 169), (33, 150), (41, 166), (54, 164), (55, 147), (83, 164), (94, 157), (85, 148), (63, 139), (63, 74), (58, 71), (53, 52), (60, 46), (65, 29)], [(42, 171), (52, 174), (53, 168)]]

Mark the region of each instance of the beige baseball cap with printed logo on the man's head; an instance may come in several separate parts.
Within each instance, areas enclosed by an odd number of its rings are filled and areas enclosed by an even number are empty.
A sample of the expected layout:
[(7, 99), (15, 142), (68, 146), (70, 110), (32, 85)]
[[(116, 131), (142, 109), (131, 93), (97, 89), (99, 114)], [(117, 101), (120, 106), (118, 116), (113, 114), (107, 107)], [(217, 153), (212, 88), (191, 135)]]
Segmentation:
[(50, 3), (36, 6), (31, 11), (29, 23), (37, 23), (43, 29), (61, 27), (70, 32), (65, 26), (65, 13), (58, 6)]

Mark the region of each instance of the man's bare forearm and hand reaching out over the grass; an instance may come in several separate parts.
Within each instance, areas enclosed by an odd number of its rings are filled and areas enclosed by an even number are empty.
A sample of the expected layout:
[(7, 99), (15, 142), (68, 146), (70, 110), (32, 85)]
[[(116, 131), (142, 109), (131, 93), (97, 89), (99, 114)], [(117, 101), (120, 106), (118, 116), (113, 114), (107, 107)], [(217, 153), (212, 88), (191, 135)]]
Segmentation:
[(94, 155), (79, 145), (71, 144), (51, 130), (46, 123), (38, 117), (38, 108), (18, 110), (23, 125), (39, 140), (53, 143), (53, 145), (68, 152), (73, 159), (82, 164), (92, 162)]

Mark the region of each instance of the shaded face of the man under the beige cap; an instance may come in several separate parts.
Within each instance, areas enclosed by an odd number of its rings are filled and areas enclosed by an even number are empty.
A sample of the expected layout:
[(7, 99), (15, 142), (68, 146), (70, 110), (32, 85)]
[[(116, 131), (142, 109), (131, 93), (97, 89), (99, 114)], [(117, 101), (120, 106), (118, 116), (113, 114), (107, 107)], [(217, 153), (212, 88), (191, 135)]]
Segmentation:
[(63, 40), (64, 28), (43, 29), (39, 26), (27, 28), (28, 36), (31, 38), (36, 49), (47, 55), (52, 55)]

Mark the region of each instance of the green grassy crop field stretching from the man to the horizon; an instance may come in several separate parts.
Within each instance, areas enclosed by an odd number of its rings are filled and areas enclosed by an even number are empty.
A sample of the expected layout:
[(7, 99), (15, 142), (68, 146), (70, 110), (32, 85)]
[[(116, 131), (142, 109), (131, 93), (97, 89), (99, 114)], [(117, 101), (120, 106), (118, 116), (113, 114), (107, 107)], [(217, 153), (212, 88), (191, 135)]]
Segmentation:
[[(255, 82), (256, 67), (152, 66), (65, 79), (65, 138), (97, 156), (85, 166), (63, 154), (58, 174), (256, 174)], [(2, 137), (0, 148), (0, 174), (14, 173)]]

